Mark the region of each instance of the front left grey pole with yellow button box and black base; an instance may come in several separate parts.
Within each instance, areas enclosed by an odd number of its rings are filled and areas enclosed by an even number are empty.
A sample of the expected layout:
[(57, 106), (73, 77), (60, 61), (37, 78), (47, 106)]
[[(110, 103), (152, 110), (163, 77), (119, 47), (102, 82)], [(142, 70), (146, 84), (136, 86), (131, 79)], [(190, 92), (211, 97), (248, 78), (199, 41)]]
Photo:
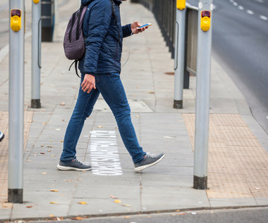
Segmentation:
[(8, 202), (23, 203), (25, 2), (10, 0)]

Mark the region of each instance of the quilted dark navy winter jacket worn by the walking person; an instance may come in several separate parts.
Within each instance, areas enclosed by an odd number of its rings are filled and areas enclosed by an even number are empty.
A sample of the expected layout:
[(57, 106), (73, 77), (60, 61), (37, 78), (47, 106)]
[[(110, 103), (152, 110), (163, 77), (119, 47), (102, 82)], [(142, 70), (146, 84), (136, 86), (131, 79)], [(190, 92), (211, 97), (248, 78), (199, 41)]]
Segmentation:
[(89, 4), (83, 24), (86, 51), (78, 67), (83, 74), (121, 72), (122, 39), (130, 36), (131, 28), (130, 24), (121, 26), (121, 1), (112, 1), (81, 0), (83, 6)]

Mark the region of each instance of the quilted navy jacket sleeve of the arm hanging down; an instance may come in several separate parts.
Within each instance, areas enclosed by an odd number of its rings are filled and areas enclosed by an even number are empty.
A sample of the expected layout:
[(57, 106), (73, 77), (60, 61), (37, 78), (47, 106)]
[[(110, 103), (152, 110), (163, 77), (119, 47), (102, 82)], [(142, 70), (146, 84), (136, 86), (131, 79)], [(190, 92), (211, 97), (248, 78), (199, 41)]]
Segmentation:
[(96, 1), (90, 12), (88, 23), (88, 37), (85, 39), (84, 72), (95, 75), (99, 51), (104, 37), (111, 23), (111, 2), (108, 0)]

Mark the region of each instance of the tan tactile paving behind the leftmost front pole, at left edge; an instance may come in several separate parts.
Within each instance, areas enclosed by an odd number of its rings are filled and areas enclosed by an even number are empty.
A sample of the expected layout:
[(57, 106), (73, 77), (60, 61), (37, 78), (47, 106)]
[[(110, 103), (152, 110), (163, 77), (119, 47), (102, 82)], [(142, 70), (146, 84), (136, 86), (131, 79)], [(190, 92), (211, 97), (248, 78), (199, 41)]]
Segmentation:
[[(24, 145), (28, 140), (32, 111), (25, 111), (24, 116)], [(4, 132), (5, 138), (0, 143), (0, 208), (1, 203), (7, 201), (8, 194), (8, 113), (0, 111), (0, 130)]]

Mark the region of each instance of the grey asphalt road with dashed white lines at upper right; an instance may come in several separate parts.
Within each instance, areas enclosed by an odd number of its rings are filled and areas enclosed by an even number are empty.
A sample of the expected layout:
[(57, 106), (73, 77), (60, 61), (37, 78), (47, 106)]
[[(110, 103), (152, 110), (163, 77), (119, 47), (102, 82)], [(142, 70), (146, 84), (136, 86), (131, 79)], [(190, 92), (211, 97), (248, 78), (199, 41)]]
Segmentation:
[[(187, 0), (197, 6), (198, 0)], [(268, 134), (268, 1), (214, 0), (212, 53)]]

